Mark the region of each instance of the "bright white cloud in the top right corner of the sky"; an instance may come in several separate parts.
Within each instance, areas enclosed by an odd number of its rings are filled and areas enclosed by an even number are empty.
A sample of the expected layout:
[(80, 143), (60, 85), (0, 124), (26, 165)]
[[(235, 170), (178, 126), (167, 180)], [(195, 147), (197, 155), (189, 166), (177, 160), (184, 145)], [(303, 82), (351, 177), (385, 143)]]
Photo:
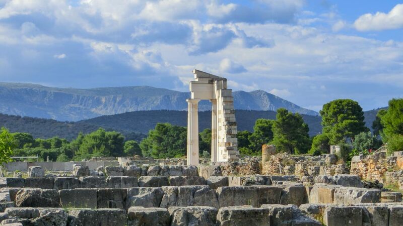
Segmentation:
[(355, 22), (358, 31), (381, 31), (403, 28), (403, 4), (397, 4), (389, 13), (364, 14)]

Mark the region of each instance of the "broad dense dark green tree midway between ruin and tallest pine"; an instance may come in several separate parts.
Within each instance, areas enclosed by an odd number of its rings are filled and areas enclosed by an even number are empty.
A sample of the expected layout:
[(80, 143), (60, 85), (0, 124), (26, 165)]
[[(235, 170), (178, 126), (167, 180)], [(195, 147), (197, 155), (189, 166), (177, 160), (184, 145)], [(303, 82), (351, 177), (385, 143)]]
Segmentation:
[(293, 114), (285, 108), (277, 110), (273, 124), (273, 144), (276, 150), (291, 154), (306, 153), (311, 146), (308, 132), (308, 125), (298, 113)]

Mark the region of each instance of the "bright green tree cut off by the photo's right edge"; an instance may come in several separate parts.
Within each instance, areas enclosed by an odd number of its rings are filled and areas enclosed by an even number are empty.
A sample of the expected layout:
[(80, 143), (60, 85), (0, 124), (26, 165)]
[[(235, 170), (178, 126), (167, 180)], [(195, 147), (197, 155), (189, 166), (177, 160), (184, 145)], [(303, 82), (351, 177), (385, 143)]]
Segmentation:
[(389, 107), (381, 116), (381, 123), (387, 140), (393, 135), (403, 135), (403, 98), (389, 100)]

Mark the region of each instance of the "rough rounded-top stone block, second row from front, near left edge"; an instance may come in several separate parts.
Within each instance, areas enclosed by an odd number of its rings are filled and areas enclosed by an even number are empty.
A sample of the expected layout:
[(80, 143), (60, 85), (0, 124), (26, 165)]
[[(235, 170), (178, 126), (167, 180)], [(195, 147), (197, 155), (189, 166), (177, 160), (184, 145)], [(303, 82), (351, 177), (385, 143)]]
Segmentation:
[(59, 207), (59, 194), (55, 189), (24, 188), (16, 194), (18, 207)]

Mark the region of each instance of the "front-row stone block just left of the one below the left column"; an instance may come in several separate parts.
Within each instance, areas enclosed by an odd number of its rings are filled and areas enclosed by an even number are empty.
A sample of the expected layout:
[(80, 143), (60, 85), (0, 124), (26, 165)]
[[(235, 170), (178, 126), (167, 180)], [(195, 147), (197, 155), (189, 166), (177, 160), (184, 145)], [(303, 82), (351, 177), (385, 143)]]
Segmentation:
[(166, 226), (170, 215), (166, 208), (130, 207), (127, 212), (127, 226)]

